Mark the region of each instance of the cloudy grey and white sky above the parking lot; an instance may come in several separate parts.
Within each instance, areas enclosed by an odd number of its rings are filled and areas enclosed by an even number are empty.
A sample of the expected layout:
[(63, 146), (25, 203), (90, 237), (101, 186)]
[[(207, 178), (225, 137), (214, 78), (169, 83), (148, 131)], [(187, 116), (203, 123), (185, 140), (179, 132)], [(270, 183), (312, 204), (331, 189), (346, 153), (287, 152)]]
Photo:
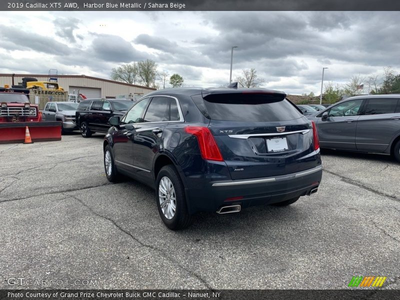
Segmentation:
[[(324, 80), (400, 71), (400, 12), (2, 12), (0, 73), (109, 78), (150, 58), (187, 86), (220, 86), (255, 68), (263, 87), (319, 94)], [(367, 82), (367, 79), (365, 80)]]

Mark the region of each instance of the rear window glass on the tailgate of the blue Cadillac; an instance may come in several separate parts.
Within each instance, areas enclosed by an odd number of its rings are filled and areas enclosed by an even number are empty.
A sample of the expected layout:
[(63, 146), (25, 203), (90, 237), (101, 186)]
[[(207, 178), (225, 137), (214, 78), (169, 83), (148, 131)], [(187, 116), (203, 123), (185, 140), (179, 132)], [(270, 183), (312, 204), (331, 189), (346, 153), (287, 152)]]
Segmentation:
[(268, 94), (211, 94), (204, 104), (214, 120), (277, 122), (303, 116), (286, 99)]

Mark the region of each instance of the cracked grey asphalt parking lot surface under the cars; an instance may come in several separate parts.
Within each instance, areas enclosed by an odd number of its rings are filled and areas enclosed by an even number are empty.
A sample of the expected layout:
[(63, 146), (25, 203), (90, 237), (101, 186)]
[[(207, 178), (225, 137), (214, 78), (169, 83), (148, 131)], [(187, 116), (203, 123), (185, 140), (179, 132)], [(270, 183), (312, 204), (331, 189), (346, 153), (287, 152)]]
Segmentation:
[(153, 190), (107, 181), (102, 138), (0, 145), (0, 288), (51, 279), (62, 280), (56, 288), (325, 289), (353, 275), (400, 288), (391, 157), (323, 151), (317, 193), (284, 208), (201, 213), (171, 231)]

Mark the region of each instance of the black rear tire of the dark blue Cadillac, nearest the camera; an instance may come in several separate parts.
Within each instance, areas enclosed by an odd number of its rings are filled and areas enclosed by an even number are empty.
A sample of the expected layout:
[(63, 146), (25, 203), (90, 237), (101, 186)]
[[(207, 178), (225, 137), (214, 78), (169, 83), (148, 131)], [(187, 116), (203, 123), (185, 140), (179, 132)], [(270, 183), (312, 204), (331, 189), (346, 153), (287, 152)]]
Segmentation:
[[(160, 196), (159, 189), (160, 189), (161, 179), (163, 179), (164, 177), (166, 177), (173, 186), (173, 192), (171, 193), (171, 197), (169, 198), (169, 202), (168, 202), (170, 204), (166, 204), (166, 205), (168, 205), (168, 207), (173, 207), (173, 202), (175, 204), (175, 211), (173, 212), (173, 216), (169, 215), (170, 218), (167, 218), (167, 216), (165, 216), (164, 212), (161, 209), (161, 205), (160, 205), (160, 198), (162, 200), (163, 197)], [(163, 180), (164, 180), (163, 182), (165, 182), (166, 179), (163, 179)], [(160, 215), (162, 221), (164, 222), (165, 226), (167, 226), (169, 229), (172, 229), (172, 230), (183, 229), (183, 228), (186, 228), (187, 226), (189, 226), (192, 222), (192, 217), (187, 211), (186, 197), (184, 194), (183, 182), (180, 179), (179, 173), (177, 172), (176, 168), (170, 164), (163, 166), (157, 175), (157, 180), (156, 180), (155, 186), (156, 186), (155, 200), (157, 203), (159, 215)], [(162, 190), (161, 190), (161, 194), (162, 194)], [(172, 200), (173, 199), (172, 194), (174, 195), (174, 198), (175, 198), (174, 201)], [(165, 200), (167, 200), (167, 197), (165, 197)], [(169, 205), (172, 205), (172, 206), (169, 206)], [(164, 206), (164, 207), (166, 207), (166, 206)], [(163, 208), (163, 209), (164, 209), (164, 211), (166, 211), (165, 209), (167, 209), (167, 208)]]

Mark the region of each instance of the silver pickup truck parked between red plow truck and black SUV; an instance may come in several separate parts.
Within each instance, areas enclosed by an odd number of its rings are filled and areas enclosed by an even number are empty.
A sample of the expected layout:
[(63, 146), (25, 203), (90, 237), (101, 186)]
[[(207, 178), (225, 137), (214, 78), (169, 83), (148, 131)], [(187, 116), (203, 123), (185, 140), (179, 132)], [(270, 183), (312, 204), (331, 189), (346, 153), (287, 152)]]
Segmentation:
[(66, 131), (79, 130), (75, 123), (75, 111), (78, 103), (57, 101), (47, 102), (43, 110), (43, 121), (60, 121), (61, 134)]

